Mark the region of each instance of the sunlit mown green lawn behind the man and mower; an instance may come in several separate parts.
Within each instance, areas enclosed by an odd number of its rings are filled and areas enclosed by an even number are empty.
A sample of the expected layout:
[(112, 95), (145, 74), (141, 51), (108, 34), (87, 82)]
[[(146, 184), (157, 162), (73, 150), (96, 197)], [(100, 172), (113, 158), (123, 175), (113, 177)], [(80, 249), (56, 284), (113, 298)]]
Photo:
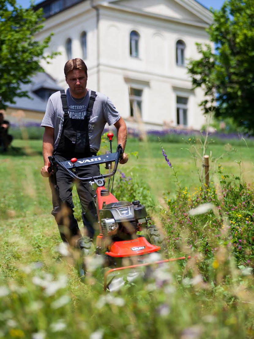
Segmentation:
[[(186, 146), (186, 143), (163, 145), (179, 180), (182, 180), (181, 184), (194, 189), (199, 185), (199, 179)], [(15, 274), (18, 262), (42, 259), (46, 249), (51, 250), (60, 241), (54, 218), (50, 215), (52, 206), (48, 180), (40, 175), (42, 141), (14, 140), (13, 147), (8, 154), (0, 155), (3, 275), (12, 275), (13, 271)], [(113, 149), (115, 147), (116, 144)], [(138, 159), (130, 156), (129, 162), (118, 168), (125, 175), (146, 181), (151, 193), (157, 198), (166, 191), (174, 194), (175, 177), (161, 154), (160, 144), (129, 139), (126, 152), (135, 151), (138, 152)], [(218, 157), (225, 152), (225, 146), (213, 145), (209, 151)], [(236, 151), (225, 155), (220, 163), (226, 172), (239, 175), (239, 165), (235, 161), (243, 161), (245, 178), (247, 182), (253, 182), (253, 151), (253, 148), (247, 148), (245, 144), (239, 145)]]

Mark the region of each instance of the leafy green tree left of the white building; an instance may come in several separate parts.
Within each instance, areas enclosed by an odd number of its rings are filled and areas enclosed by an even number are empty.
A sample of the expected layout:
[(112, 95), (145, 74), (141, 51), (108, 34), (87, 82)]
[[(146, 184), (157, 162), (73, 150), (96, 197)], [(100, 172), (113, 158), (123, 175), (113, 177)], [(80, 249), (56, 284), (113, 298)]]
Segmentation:
[[(33, 6), (22, 8), (16, 0), (0, 0), (0, 109), (15, 103), (15, 97), (28, 97), (21, 84), (42, 71), (40, 60), (52, 59), (56, 53), (43, 56), (51, 35), (38, 42), (34, 35), (43, 28), (43, 11)], [(47, 61), (48, 62), (48, 61)]]

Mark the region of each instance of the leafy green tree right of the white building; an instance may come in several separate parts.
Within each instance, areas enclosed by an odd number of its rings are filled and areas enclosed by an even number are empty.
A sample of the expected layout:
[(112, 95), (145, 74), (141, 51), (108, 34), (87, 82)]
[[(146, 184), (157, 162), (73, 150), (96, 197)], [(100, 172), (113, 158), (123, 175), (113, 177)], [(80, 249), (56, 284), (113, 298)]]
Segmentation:
[(232, 117), (253, 135), (254, 0), (228, 0), (212, 13), (207, 29), (212, 43), (197, 44), (201, 58), (188, 65), (193, 87), (205, 89), (206, 99), (200, 103), (205, 113)]

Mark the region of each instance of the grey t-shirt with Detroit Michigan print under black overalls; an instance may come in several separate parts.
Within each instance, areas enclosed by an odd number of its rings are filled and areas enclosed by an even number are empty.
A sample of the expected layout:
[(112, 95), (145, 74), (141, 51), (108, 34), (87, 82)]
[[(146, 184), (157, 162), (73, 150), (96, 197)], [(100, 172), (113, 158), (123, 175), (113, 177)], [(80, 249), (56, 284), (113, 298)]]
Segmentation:
[[(67, 103), (69, 106), (69, 118), (83, 120), (88, 106), (91, 89), (88, 89), (84, 100), (73, 100), (70, 96), (69, 88), (65, 90)], [(96, 92), (96, 99), (93, 105), (93, 113), (89, 120), (88, 133), (89, 143), (92, 152), (98, 152), (100, 148), (101, 134), (105, 124), (113, 125), (120, 119), (120, 114), (117, 112), (115, 106), (110, 99), (99, 92)], [(47, 103), (46, 112), (42, 119), (41, 126), (54, 128), (54, 149), (59, 144), (63, 122), (64, 111), (60, 96), (60, 91), (52, 94)]]

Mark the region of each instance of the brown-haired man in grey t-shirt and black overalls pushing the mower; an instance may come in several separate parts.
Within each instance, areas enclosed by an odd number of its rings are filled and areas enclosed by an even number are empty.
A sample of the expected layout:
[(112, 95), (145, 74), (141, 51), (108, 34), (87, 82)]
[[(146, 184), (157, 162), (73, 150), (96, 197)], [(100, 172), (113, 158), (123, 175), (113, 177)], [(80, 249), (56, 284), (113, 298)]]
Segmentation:
[[(65, 92), (56, 92), (50, 96), (41, 124), (45, 127), (43, 136), (44, 166), (41, 169), (41, 174), (43, 177), (49, 177), (53, 203), (51, 213), (55, 217), (61, 238), (64, 242), (74, 245), (76, 239), (82, 235), (73, 215), (73, 178), (60, 168), (56, 172), (58, 186), (56, 189), (52, 175), (48, 173), (48, 157), (55, 155), (58, 159), (65, 161), (74, 157), (96, 156), (106, 122), (109, 125), (115, 125), (117, 143), (121, 144), (124, 149), (127, 129), (124, 120), (109, 98), (86, 88), (87, 66), (82, 59), (76, 58), (67, 61), (64, 73), (69, 88)], [(120, 163), (124, 164), (127, 161), (128, 157), (123, 153)], [(97, 176), (100, 174), (99, 166), (76, 168), (76, 174), (79, 177)], [(89, 184), (84, 182), (75, 182), (75, 184), (82, 206), (87, 235), (92, 238), (94, 230), (91, 216), (94, 216), (95, 213)]]

